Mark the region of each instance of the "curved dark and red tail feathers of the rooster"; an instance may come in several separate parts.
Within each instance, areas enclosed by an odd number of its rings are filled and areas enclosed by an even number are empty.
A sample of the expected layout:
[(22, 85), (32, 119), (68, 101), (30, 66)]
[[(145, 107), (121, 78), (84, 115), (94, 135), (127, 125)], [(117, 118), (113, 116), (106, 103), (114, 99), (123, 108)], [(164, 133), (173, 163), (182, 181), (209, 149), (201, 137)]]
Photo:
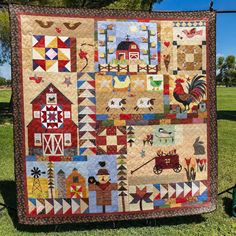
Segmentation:
[(196, 102), (199, 102), (206, 94), (206, 81), (202, 78), (205, 78), (205, 76), (195, 75), (191, 83), (188, 82), (187, 85), (189, 94), (192, 95)]

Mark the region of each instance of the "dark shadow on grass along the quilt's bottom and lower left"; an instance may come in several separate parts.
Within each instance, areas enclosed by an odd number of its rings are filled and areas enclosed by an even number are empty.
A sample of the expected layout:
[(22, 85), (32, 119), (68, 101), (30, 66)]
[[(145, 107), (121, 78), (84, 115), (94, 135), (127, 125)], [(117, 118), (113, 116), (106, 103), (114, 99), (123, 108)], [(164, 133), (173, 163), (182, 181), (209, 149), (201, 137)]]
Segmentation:
[[(6, 205), (16, 208), (16, 185), (14, 181), (0, 181), (0, 193)], [(130, 227), (155, 227), (163, 225), (181, 225), (181, 224), (196, 224), (205, 221), (201, 215), (182, 216), (162, 219), (149, 220), (130, 220), (119, 222), (100, 222), (100, 223), (80, 223), (80, 224), (62, 224), (62, 225), (48, 225), (48, 226), (27, 226), (18, 224), (17, 212), (8, 209), (8, 214), (12, 219), (14, 227), (19, 231), (25, 232), (66, 232), (66, 231), (87, 231), (87, 230), (104, 230), (104, 229), (124, 229)]]

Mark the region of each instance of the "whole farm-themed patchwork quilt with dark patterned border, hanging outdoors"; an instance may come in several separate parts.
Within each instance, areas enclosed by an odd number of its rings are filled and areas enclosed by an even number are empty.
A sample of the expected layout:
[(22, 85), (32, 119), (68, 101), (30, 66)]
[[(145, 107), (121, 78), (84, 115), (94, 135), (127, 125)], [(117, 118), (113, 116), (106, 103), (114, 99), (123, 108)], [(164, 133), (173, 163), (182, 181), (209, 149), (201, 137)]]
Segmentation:
[(20, 223), (215, 209), (214, 11), (10, 13)]

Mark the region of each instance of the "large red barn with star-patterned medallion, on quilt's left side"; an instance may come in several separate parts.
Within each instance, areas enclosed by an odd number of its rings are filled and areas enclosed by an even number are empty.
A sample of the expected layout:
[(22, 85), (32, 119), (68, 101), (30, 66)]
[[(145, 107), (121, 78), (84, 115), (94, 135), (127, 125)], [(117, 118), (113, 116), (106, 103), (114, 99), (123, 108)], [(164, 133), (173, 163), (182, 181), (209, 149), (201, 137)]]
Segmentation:
[(29, 155), (52, 159), (77, 155), (77, 125), (72, 120), (72, 102), (49, 84), (31, 104), (33, 119), (27, 126)]

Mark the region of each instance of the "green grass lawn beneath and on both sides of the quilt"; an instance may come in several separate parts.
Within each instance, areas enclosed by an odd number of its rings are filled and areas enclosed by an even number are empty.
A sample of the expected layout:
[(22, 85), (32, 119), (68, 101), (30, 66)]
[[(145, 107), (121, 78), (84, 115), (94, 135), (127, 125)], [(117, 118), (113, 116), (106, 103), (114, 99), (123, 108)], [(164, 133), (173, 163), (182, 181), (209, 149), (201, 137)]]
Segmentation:
[[(218, 88), (219, 192), (236, 183), (236, 88)], [(10, 91), (0, 91), (0, 109), (10, 100)], [(5, 104), (5, 105), (4, 105)], [(0, 110), (1, 111), (1, 110)], [(1, 113), (0, 113), (1, 114)], [(13, 136), (11, 120), (0, 124), (0, 202), (15, 207)], [(231, 215), (232, 195), (218, 198), (212, 213), (156, 220), (91, 223), (82, 225), (20, 226), (16, 213), (0, 212), (0, 235), (236, 235), (236, 218)], [(114, 227), (116, 226), (116, 227)], [(17, 230), (18, 228), (18, 230)]]

